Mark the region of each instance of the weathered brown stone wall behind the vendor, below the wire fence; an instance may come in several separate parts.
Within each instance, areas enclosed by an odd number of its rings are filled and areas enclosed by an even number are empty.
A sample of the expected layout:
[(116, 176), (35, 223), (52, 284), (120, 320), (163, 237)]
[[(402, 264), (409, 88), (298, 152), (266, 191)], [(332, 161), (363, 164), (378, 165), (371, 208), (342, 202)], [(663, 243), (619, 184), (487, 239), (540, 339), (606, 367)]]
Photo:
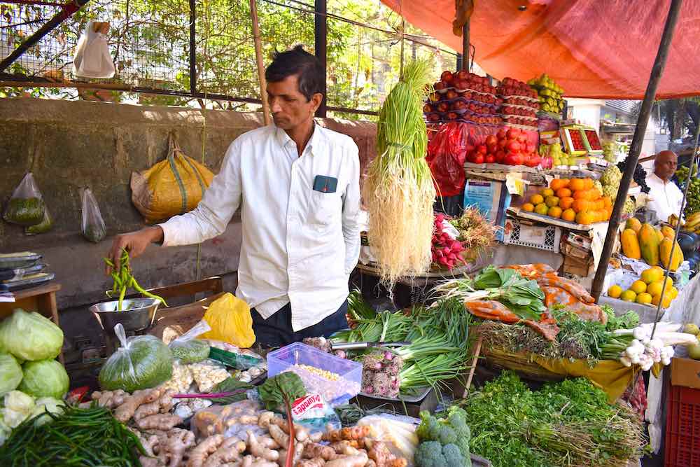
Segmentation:
[[(363, 165), (374, 155), (374, 123), (330, 119), (319, 123), (353, 137)], [(143, 226), (131, 202), (131, 172), (162, 160), (168, 135), (175, 132), (183, 152), (197, 160), (203, 156), (216, 173), (230, 142), (260, 125), (257, 113), (0, 99), (0, 200), (5, 202), (31, 171), (55, 222), (52, 232), (36, 237), (0, 223), (0, 252), (31, 250), (44, 255), (62, 284), (59, 308), (74, 312), (75, 319), (64, 320), (64, 326), (79, 332), (92, 319), (87, 305), (102, 300), (111, 285), (103, 273), (102, 257), (112, 236)], [(80, 188), (85, 186), (97, 198), (109, 232), (97, 245), (79, 234)], [(240, 241), (236, 216), (224, 235), (202, 244), (201, 277), (223, 275), (227, 288), (235, 288)], [(134, 273), (146, 287), (193, 280), (196, 270), (197, 246), (152, 246), (143, 259), (134, 261)]]

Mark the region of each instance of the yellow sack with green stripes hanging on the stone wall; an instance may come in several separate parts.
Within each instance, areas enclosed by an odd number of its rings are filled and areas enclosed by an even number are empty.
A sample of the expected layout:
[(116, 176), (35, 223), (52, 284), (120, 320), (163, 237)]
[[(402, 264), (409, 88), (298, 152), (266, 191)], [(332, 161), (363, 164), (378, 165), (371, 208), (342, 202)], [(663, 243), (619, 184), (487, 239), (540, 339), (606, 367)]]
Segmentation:
[(132, 202), (146, 223), (166, 221), (197, 207), (214, 174), (180, 150), (173, 134), (168, 156), (143, 172), (132, 172)]

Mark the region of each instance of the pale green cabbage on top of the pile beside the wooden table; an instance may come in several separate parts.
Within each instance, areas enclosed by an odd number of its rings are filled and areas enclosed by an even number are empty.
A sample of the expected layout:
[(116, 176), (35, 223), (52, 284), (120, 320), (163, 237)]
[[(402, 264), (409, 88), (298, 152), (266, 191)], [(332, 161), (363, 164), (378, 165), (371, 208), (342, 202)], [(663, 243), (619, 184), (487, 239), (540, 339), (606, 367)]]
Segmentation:
[(63, 331), (50, 319), (36, 312), (15, 309), (0, 322), (0, 351), (22, 360), (56, 358), (63, 346)]

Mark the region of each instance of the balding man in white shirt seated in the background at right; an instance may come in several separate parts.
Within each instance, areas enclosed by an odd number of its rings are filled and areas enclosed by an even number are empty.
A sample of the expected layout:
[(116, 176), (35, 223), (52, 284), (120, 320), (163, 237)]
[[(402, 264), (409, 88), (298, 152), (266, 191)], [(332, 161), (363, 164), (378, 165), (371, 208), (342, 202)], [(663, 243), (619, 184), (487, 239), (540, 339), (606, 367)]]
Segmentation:
[(647, 207), (655, 211), (659, 221), (668, 221), (668, 216), (680, 212), (683, 193), (671, 181), (678, 167), (678, 156), (673, 151), (661, 151), (654, 158), (654, 172), (647, 175), (646, 182), (650, 188), (650, 201)]

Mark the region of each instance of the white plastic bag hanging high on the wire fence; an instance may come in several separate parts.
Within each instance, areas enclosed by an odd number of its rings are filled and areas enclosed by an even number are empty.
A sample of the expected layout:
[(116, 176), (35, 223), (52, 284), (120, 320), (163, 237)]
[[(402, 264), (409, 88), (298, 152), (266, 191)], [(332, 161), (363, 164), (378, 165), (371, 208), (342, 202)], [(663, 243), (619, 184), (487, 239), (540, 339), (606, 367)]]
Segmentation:
[(80, 36), (73, 57), (73, 74), (82, 78), (111, 78), (114, 62), (109, 55), (106, 34), (109, 22), (90, 21)]

